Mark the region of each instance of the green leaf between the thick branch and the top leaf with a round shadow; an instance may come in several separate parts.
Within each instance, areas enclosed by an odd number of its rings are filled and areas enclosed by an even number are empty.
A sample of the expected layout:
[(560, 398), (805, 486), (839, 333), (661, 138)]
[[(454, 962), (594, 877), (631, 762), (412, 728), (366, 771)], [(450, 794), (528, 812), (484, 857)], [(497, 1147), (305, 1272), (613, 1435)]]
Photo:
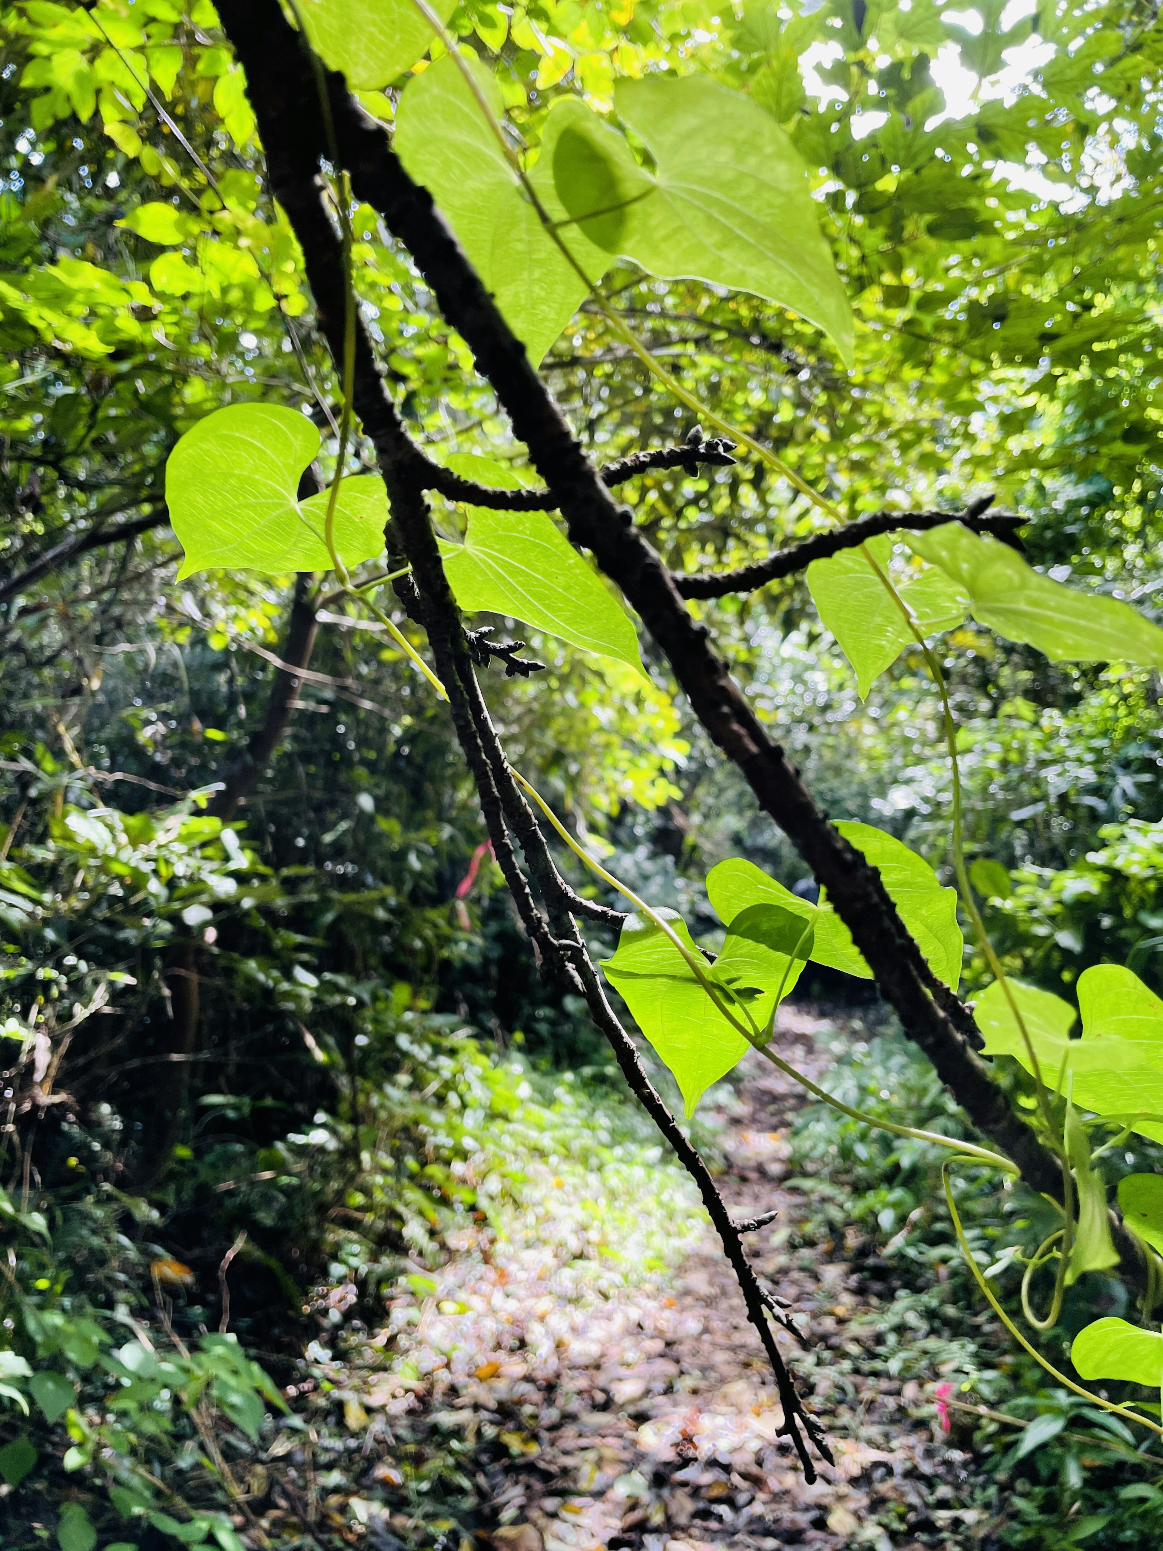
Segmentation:
[[(493, 76), (471, 67), (501, 118), (504, 104)], [(532, 181), (552, 191), (554, 113), (546, 124), (543, 160)], [(408, 172), (431, 192), (476, 273), (493, 293), (513, 333), (538, 364), (588, 292), (521, 189), (456, 60), (445, 54), (403, 88), (395, 115), (395, 150)], [(549, 209), (554, 216), (554, 209)], [(609, 254), (577, 239), (574, 251), (599, 279)], [(597, 267), (594, 268), (594, 261)]]

